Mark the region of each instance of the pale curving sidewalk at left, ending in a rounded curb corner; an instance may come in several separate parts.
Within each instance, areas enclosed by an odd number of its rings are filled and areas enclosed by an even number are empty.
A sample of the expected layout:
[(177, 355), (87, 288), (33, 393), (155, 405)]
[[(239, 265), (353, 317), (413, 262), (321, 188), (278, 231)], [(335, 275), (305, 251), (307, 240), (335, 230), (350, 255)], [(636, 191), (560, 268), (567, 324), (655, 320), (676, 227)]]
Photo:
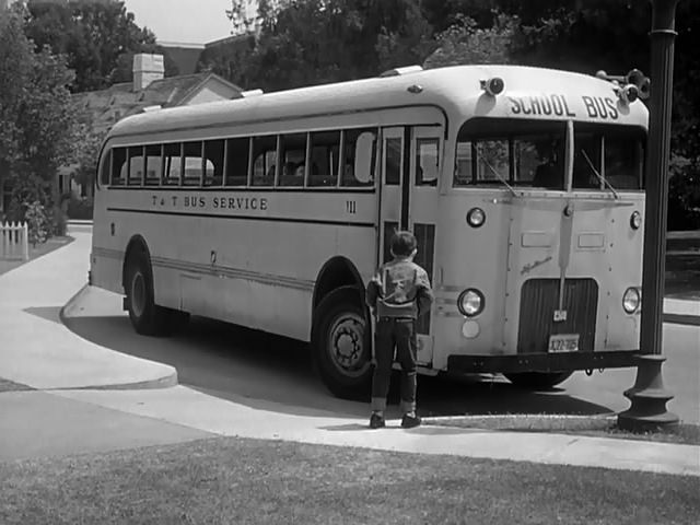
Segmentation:
[(172, 366), (75, 336), (60, 311), (88, 281), (90, 233), (0, 276), (0, 377), (39, 389), (177, 384)]

